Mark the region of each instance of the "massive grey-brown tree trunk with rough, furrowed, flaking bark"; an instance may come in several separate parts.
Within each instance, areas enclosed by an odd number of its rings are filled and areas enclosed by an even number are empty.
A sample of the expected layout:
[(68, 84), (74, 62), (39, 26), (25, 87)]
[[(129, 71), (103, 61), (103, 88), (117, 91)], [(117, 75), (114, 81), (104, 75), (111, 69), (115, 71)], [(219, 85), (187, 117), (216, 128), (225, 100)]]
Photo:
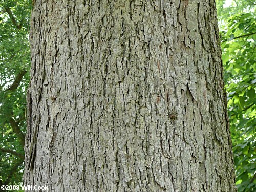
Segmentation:
[(36, 0), (24, 181), (236, 191), (214, 0)]

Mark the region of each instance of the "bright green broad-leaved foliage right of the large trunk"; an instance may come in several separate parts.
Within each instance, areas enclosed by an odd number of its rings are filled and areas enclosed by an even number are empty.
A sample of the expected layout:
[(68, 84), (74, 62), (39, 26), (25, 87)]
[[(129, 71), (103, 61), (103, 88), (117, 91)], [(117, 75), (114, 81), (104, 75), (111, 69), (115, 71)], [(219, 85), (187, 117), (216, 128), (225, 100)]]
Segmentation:
[(230, 129), (233, 141), (238, 191), (256, 188), (255, 135), (255, 3), (218, 1), (222, 36), (224, 79), (228, 92)]

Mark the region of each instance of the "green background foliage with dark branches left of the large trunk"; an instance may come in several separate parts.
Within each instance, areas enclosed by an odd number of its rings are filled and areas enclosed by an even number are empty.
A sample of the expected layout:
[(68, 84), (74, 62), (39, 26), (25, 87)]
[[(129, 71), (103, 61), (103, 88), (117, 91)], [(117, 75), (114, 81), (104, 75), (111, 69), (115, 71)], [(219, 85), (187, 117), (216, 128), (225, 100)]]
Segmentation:
[(29, 1), (0, 3), (0, 185), (20, 184), (29, 80)]

